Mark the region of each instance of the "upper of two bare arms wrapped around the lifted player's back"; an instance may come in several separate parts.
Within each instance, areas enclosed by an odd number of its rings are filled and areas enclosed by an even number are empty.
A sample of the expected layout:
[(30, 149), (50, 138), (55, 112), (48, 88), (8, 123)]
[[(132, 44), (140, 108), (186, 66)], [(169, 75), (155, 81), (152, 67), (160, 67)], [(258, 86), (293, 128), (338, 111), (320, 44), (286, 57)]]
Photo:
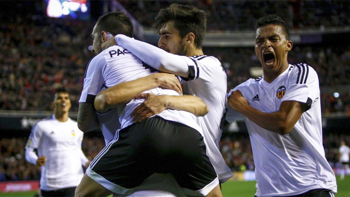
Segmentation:
[(94, 106), (98, 112), (104, 113), (118, 104), (131, 101), (140, 93), (156, 87), (173, 89), (180, 95), (182, 94), (181, 84), (175, 75), (153, 73), (137, 80), (119, 83), (100, 91), (95, 97)]

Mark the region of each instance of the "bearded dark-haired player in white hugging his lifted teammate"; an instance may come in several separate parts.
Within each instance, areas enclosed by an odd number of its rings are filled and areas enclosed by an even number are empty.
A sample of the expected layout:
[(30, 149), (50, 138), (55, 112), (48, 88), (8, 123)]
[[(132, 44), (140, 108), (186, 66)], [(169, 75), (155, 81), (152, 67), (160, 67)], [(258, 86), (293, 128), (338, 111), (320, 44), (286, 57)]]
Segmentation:
[[(188, 14), (189, 11), (193, 15)], [(181, 17), (181, 15), (186, 15), (186, 17)], [(125, 35), (115, 36), (115, 40), (111, 39), (103, 43), (103, 47), (113, 46), (117, 43), (153, 68), (180, 75), (185, 80), (182, 83), (184, 94), (200, 97), (208, 104), (209, 109), (213, 109), (204, 117), (197, 117), (197, 123), (204, 133), (207, 155), (214, 165), (219, 180), (223, 183), (232, 177), (232, 172), (221, 156), (218, 146), (221, 137), (221, 117), (225, 112), (227, 82), (221, 63), (215, 57), (205, 56), (202, 52), (205, 22), (203, 11), (190, 6), (174, 4), (169, 8), (162, 9), (156, 17), (155, 27), (161, 34), (158, 43), (160, 48)], [(112, 92), (113, 90), (107, 91)], [(141, 94), (139, 97), (147, 99), (134, 110), (134, 121), (139, 122), (160, 113), (169, 105), (182, 103), (174, 100), (170, 103), (166, 96), (153, 94)], [(146, 185), (146, 183), (142, 185)], [(152, 186), (155, 190), (159, 189), (159, 185)], [(152, 190), (152, 186), (148, 187), (149, 190)], [(159, 191), (156, 192), (156, 195), (159, 195)], [(143, 195), (141, 189), (136, 194)]]

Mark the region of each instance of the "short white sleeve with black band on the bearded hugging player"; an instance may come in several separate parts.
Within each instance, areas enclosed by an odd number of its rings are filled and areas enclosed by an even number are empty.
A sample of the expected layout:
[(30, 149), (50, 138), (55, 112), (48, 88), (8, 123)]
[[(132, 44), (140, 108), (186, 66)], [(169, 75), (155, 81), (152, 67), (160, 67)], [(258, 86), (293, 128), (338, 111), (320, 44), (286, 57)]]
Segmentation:
[(212, 86), (216, 86), (216, 82), (219, 78), (225, 78), (226, 73), (221, 66), (219, 60), (215, 57), (197, 56), (186, 57), (181, 56), (187, 62), (188, 70), (190, 74), (188, 77), (181, 77), (185, 81), (201, 80), (199, 84), (205, 84), (210, 89)]

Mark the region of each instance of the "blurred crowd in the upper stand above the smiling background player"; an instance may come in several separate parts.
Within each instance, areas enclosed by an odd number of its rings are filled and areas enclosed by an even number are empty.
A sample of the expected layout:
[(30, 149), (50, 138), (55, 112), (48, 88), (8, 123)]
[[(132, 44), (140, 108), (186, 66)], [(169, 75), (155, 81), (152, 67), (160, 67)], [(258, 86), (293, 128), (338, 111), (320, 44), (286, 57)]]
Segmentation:
[(0, 109), (52, 110), (60, 86), (71, 94), (72, 110), (93, 54), (90, 23), (36, 17), (0, 25)]

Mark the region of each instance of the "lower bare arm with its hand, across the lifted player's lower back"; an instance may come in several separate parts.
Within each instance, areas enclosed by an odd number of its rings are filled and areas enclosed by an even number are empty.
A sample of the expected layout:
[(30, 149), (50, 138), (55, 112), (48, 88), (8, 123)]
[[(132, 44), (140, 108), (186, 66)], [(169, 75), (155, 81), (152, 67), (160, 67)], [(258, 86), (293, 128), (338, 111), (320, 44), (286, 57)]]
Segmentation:
[(165, 109), (187, 111), (195, 116), (205, 116), (209, 112), (207, 104), (199, 97), (192, 95), (172, 96), (140, 94), (136, 99), (146, 99), (131, 113), (133, 122), (142, 122), (147, 118), (160, 114)]

